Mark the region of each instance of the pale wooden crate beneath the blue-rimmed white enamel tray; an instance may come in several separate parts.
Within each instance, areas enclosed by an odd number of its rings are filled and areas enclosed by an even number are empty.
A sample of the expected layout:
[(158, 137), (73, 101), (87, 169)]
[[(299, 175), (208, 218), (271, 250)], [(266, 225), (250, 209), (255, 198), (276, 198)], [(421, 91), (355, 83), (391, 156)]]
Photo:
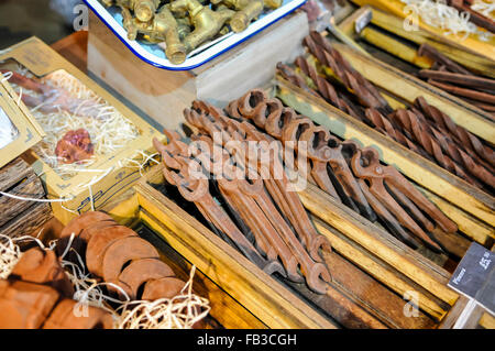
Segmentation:
[(224, 105), (268, 83), (277, 62), (301, 52), (299, 43), (307, 34), (306, 13), (296, 12), (198, 68), (165, 70), (138, 58), (90, 13), (88, 70), (156, 122), (175, 129), (195, 99)]

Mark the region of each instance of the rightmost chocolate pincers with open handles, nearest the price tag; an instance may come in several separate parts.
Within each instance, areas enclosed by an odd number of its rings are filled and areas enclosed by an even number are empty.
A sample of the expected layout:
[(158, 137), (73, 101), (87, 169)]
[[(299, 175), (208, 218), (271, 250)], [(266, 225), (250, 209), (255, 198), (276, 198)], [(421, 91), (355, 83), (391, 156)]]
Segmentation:
[(418, 189), (410, 185), (402, 175), (392, 166), (383, 166), (380, 164), (378, 152), (373, 147), (365, 147), (358, 151), (352, 157), (352, 169), (362, 178), (371, 183), (370, 190), (376, 196), (381, 202), (398, 219), (398, 221), (409, 229), (415, 235), (420, 238), (431, 249), (441, 251), (440, 245), (435, 242), (408, 215), (403, 208), (396, 206), (395, 200), (385, 188), (385, 184), (395, 187), (404, 193), (419, 208), (427, 212), (435, 221), (447, 232), (455, 232), (458, 227), (449, 218), (447, 218), (435, 205), (426, 199)]

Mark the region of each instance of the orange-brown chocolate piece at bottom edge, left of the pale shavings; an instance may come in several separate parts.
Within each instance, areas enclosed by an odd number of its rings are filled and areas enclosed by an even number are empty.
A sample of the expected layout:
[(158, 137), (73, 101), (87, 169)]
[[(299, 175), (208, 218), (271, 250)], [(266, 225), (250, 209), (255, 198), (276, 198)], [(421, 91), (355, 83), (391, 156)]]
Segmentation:
[(85, 306), (76, 314), (77, 301), (63, 299), (43, 325), (43, 329), (112, 329), (112, 316), (101, 308)]

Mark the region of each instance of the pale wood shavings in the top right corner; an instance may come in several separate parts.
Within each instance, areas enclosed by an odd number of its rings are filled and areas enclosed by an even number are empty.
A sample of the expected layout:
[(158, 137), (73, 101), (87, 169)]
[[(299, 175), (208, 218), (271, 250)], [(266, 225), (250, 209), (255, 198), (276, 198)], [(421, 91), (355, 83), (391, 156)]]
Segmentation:
[(470, 34), (477, 35), (480, 40), (487, 41), (492, 36), (490, 32), (481, 31), (470, 22), (470, 13), (459, 12), (447, 4), (444, 0), (400, 0), (410, 6), (421, 20), (431, 26), (446, 31), (446, 35), (462, 35), (465, 40)]

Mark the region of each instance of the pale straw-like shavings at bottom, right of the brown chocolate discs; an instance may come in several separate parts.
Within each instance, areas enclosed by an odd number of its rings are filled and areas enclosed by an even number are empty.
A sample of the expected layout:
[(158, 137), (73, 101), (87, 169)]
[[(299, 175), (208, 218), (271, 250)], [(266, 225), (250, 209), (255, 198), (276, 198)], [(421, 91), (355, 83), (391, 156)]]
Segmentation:
[(209, 301), (193, 294), (193, 266), (189, 281), (174, 298), (130, 301), (122, 306), (116, 329), (191, 329), (209, 311)]

